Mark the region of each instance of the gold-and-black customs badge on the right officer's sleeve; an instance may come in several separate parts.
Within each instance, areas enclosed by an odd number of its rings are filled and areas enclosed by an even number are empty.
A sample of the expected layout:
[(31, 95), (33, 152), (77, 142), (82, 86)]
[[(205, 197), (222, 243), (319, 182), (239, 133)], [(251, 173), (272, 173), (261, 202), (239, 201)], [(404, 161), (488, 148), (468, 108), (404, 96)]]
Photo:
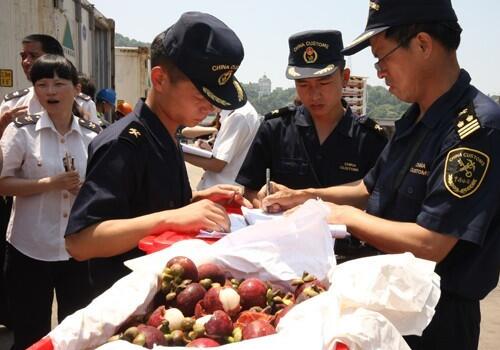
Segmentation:
[(490, 157), (475, 149), (461, 147), (448, 152), (444, 184), (458, 198), (470, 196), (481, 186)]

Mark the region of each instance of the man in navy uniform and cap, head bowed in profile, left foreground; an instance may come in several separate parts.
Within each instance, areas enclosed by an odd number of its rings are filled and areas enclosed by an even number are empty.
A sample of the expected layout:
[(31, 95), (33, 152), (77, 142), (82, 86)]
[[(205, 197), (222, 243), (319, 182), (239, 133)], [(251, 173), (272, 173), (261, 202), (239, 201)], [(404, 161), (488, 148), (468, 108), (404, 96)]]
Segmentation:
[[(236, 186), (191, 193), (175, 138), (214, 107), (238, 108), (246, 95), (234, 77), (243, 59), (236, 34), (217, 18), (188, 12), (151, 45), (147, 98), (89, 146), (87, 177), (73, 206), (66, 247), (90, 260), (99, 294), (128, 271), (143, 237), (167, 230), (229, 230), (224, 208), (209, 199), (243, 202)], [(208, 199), (207, 199), (208, 198)]]

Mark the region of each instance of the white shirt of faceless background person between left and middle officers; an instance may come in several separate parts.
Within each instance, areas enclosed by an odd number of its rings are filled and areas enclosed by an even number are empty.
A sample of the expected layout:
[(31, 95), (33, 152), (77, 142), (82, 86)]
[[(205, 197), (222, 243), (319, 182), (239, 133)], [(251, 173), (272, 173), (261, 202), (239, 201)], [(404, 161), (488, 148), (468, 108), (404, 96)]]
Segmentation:
[(239, 185), (236, 176), (262, 121), (262, 116), (250, 102), (234, 111), (223, 110), (220, 116), (221, 126), (215, 137), (212, 156), (227, 164), (219, 173), (206, 170), (198, 183), (198, 190), (218, 184)]

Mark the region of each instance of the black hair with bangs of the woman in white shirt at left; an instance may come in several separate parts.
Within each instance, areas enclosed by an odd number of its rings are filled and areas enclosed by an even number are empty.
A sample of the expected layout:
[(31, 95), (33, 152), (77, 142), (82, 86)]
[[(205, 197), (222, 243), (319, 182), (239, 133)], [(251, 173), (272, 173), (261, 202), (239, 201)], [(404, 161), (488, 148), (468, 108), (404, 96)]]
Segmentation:
[(79, 83), (78, 71), (71, 61), (63, 56), (46, 54), (38, 58), (31, 66), (30, 80), (33, 85), (40, 79), (54, 78), (71, 80), (73, 85)]

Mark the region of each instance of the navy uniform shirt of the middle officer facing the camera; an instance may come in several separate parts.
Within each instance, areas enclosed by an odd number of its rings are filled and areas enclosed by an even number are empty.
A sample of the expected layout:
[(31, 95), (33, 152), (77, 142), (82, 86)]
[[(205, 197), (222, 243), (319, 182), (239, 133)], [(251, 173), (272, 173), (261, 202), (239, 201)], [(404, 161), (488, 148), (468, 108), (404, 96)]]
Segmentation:
[(304, 106), (264, 121), (255, 135), (236, 182), (252, 190), (271, 179), (290, 188), (329, 187), (362, 179), (375, 164), (387, 138), (371, 119), (346, 113), (323, 144)]

